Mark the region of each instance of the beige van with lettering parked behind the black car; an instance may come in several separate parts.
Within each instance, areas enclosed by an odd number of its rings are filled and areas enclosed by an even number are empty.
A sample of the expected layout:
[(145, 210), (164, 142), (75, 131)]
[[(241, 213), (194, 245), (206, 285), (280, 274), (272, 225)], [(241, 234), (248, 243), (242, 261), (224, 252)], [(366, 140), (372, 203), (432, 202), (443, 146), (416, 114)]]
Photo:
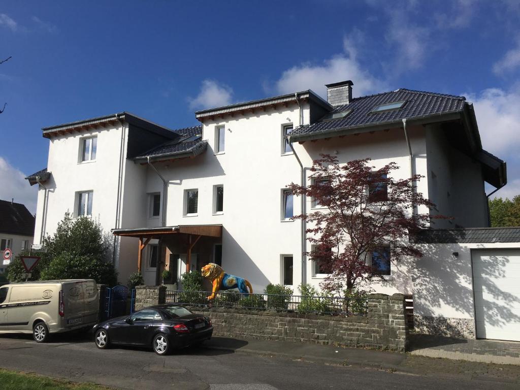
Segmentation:
[(0, 287), (0, 334), (32, 333), (43, 343), (49, 333), (92, 327), (99, 297), (92, 279), (11, 283)]

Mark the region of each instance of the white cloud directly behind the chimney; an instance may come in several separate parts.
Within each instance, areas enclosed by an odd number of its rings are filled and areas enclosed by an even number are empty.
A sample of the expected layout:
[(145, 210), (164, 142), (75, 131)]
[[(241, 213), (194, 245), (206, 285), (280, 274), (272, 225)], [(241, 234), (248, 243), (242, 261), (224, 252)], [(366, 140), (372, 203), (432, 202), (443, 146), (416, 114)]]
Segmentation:
[(373, 92), (381, 92), (384, 83), (370, 74), (357, 60), (356, 47), (364, 40), (362, 34), (355, 30), (343, 40), (344, 53), (332, 56), (319, 64), (308, 62), (295, 65), (285, 70), (274, 88), (279, 94), (289, 94), (300, 90), (312, 89), (320, 96), (327, 98), (325, 84), (352, 80), (356, 96)]

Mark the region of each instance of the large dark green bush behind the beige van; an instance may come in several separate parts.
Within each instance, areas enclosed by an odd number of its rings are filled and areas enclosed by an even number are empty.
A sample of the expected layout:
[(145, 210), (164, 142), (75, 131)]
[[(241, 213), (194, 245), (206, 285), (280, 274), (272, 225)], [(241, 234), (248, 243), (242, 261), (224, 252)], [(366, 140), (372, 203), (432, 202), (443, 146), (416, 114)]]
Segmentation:
[[(32, 272), (32, 280), (94, 279), (97, 283), (117, 282), (112, 263), (108, 262), (110, 245), (99, 223), (92, 218), (73, 219), (67, 212), (54, 236), (44, 239), (46, 253)], [(9, 280), (21, 281), (23, 266), (19, 256), (9, 266)]]

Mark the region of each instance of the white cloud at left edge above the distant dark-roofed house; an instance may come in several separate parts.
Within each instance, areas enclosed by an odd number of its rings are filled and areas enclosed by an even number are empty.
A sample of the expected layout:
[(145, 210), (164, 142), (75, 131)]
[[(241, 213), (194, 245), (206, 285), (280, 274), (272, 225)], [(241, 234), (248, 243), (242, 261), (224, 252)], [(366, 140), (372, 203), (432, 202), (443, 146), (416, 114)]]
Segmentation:
[(0, 199), (22, 203), (31, 213), (36, 212), (37, 186), (29, 186), (25, 175), (0, 157)]

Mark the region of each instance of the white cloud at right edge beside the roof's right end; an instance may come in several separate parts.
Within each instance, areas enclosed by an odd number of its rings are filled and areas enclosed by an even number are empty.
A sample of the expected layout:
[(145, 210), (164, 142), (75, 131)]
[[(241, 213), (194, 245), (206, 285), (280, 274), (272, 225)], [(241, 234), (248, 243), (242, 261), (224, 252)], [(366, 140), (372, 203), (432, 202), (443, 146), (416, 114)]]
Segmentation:
[(516, 156), (520, 148), (520, 93), (512, 89), (484, 89), (478, 95), (466, 94), (473, 102), (484, 149), (498, 157)]

